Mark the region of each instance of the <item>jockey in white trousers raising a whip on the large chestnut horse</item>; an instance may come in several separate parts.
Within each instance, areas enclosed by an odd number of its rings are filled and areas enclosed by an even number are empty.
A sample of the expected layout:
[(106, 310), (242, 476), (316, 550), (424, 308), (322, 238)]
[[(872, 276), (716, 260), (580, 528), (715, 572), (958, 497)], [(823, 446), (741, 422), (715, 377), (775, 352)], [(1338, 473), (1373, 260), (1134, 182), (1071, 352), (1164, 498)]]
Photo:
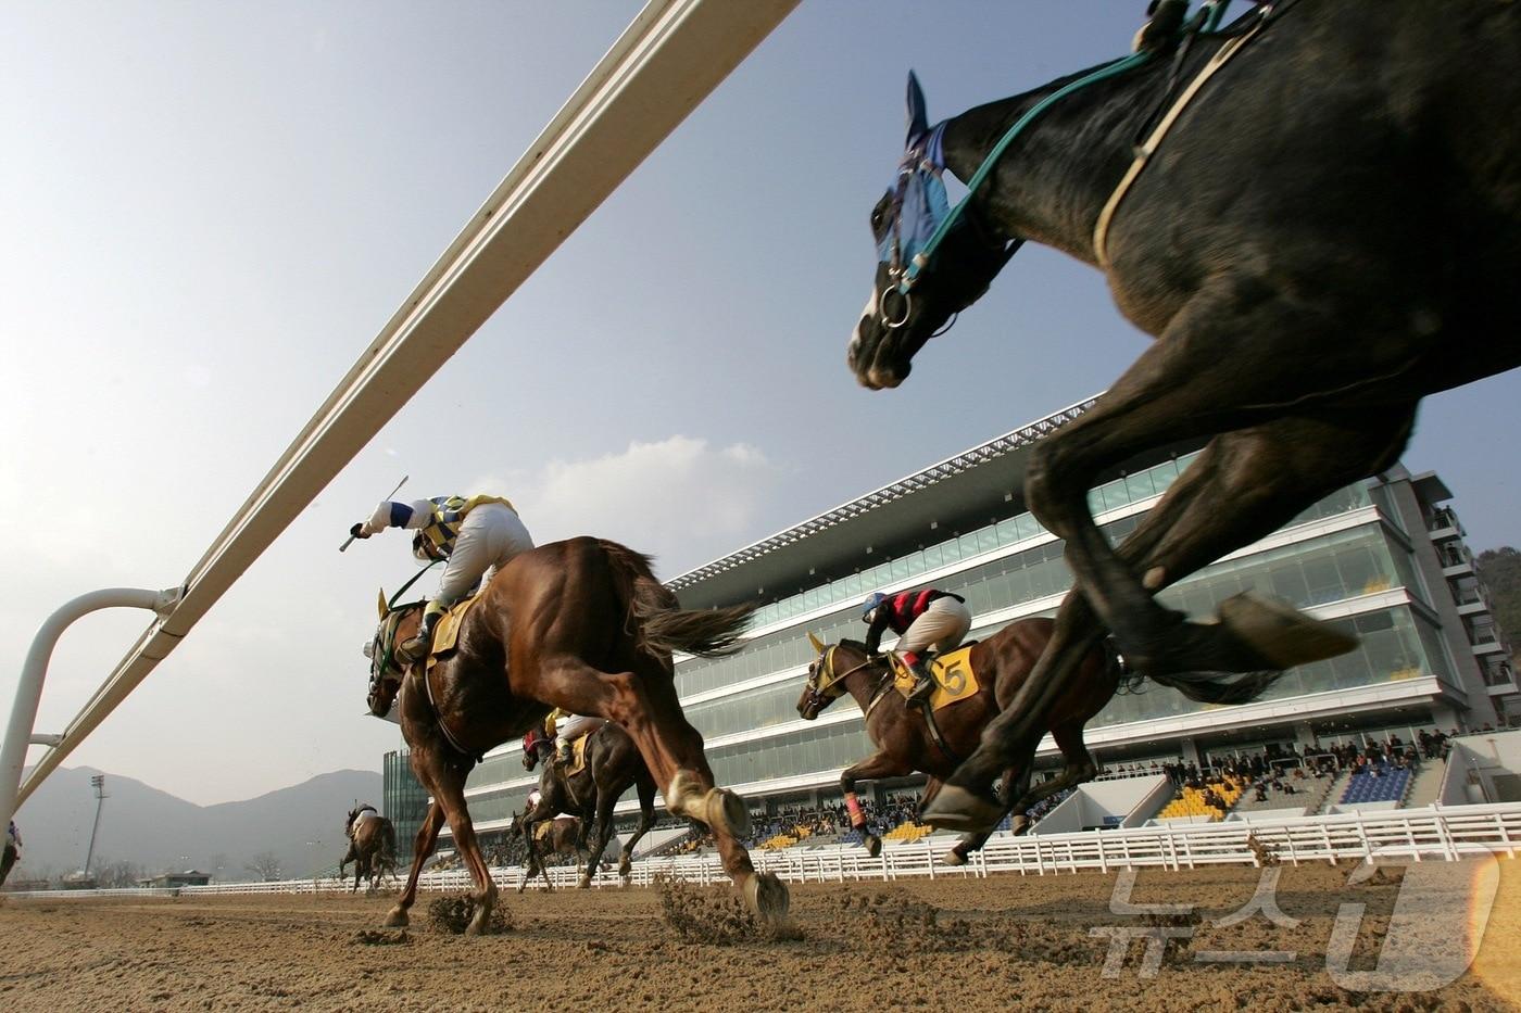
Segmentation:
[(438, 578), (438, 592), (423, 610), (423, 624), (395, 651), (406, 663), (427, 657), (433, 627), (450, 605), (478, 583), (485, 587), (514, 555), (534, 548), (513, 503), (500, 496), (435, 496), (411, 503), (383, 500), (370, 520), (359, 522), (348, 534), (368, 538), (386, 528), (417, 531), (412, 554), (418, 560), (449, 560)]

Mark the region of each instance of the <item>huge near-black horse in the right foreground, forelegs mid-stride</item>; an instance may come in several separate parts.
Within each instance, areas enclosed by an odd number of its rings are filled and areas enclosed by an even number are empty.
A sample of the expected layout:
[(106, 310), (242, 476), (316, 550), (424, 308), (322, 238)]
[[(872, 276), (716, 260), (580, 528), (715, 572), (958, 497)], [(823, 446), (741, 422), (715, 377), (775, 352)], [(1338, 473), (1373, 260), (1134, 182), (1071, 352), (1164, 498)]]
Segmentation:
[[(1036, 671), (926, 814), (938, 826), (998, 820), (993, 779), (1106, 631), (1148, 675), (1285, 669), (1349, 649), (1287, 604), (1237, 596), (1200, 624), (1153, 595), (1392, 465), (1427, 394), (1521, 362), (1521, 5), (1290, 0), (1197, 38), (1177, 81), (1246, 32), (1129, 190), (1138, 138), (1171, 106), (1176, 37), (1036, 119), (908, 298), (903, 262), (888, 252), (878, 266), (849, 350), (868, 388), (902, 383), (1024, 239), (1100, 266), (1121, 312), (1156, 336), (1092, 411), (1031, 452), (1025, 500), (1066, 540), (1075, 586)], [(969, 179), (1011, 123), (1077, 76), (948, 120), (946, 167)], [(910, 120), (913, 151), (932, 135), (913, 84)], [(905, 186), (925, 175), (922, 154), (905, 160)], [(873, 213), (885, 251), (899, 205), (890, 193)], [(1112, 549), (1088, 488), (1200, 438), (1203, 453)]]

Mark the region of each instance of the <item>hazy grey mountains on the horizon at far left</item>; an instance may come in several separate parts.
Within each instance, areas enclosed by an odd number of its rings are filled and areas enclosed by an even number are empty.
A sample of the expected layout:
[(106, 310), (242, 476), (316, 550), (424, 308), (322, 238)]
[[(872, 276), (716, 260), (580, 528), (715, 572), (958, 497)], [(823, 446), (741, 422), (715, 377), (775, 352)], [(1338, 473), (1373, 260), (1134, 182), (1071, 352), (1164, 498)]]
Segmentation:
[[(15, 817), (26, 844), (17, 878), (56, 878), (84, 867), (96, 815), (90, 777), (100, 773), (61, 767), (26, 800)], [(260, 879), (246, 867), (259, 855), (274, 855), (283, 876), (309, 876), (344, 856), (344, 818), (356, 799), (380, 808), (380, 782), (376, 771), (341, 770), (257, 799), (198, 806), (105, 773), (91, 869), (125, 862), (146, 873), (199, 869), (222, 881)]]

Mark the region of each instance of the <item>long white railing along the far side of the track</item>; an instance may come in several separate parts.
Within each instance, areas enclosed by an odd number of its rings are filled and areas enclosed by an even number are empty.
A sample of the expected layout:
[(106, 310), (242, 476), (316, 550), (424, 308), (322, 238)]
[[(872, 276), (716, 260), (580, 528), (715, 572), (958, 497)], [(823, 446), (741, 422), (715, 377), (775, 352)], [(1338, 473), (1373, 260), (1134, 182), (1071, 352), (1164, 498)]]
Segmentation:
[[(1250, 838), (1250, 840), (1249, 840)], [(1051, 837), (995, 835), (987, 846), (972, 855), (966, 865), (940, 862), (951, 847), (951, 838), (937, 837), (913, 844), (888, 844), (878, 858), (853, 846), (791, 847), (774, 852), (751, 852), (756, 869), (773, 872), (789, 882), (846, 882), (861, 879), (967, 878), (993, 873), (1075, 873), (1084, 869), (1197, 869), (1200, 865), (1259, 865), (1267, 849), (1278, 861), (1300, 862), (1363, 861), (1456, 861), (1484, 853), (1515, 856), (1521, 850), (1521, 803), (1481, 806), (1431, 806), (1427, 809), (1395, 809), (1386, 812), (1343, 812), (1323, 817), (1293, 817), (1230, 823), (1192, 823), (1167, 827), (1130, 827), (1056, 834)], [(497, 887), (516, 891), (523, 881), (519, 867), (494, 869)], [(698, 884), (729, 882), (716, 855), (653, 858), (633, 864), (630, 882), (648, 887), (660, 878)], [(569, 865), (549, 870), (555, 888), (576, 884), (576, 872)], [(389, 885), (389, 884), (388, 884)], [(424, 873), (418, 885), (427, 891), (458, 891), (470, 888), (470, 873), (464, 869)], [(616, 872), (599, 872), (592, 885), (619, 887)], [(535, 876), (532, 890), (543, 890)], [(46, 896), (49, 899), (99, 896), (179, 896), (179, 894), (263, 894), (263, 893), (347, 893), (353, 879), (291, 879), (283, 882), (234, 882), (179, 890), (56, 890), (47, 893), (15, 893), (11, 896)]]

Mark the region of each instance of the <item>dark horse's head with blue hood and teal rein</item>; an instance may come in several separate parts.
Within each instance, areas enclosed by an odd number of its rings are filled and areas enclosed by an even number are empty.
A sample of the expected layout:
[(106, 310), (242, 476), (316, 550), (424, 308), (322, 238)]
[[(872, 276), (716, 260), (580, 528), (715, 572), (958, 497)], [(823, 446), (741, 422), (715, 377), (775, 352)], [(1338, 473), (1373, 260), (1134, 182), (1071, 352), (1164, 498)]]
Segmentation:
[(846, 360), (862, 386), (897, 386), (914, 354), (975, 303), (1021, 240), (990, 234), (964, 201), (946, 199), (946, 123), (929, 126), (919, 79), (908, 75), (908, 140), (894, 184), (872, 208), (878, 265)]

